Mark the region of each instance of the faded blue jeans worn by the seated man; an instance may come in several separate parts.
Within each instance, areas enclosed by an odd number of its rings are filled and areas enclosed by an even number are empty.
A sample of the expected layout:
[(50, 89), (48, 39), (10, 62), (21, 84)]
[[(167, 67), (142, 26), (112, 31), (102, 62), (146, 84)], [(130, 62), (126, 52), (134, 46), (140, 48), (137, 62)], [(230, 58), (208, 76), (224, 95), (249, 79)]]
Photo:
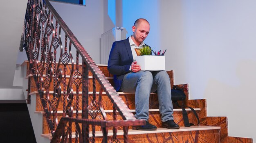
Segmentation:
[(173, 119), (171, 83), (165, 71), (130, 72), (124, 76), (121, 91), (135, 94), (135, 117), (148, 121), (149, 95), (157, 90), (161, 120)]

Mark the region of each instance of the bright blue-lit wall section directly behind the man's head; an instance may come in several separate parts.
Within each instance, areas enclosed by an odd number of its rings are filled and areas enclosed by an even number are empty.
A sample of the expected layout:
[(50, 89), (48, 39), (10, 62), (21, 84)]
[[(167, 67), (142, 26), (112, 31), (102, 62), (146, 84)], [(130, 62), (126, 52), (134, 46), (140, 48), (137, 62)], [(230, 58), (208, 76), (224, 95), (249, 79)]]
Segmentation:
[(138, 18), (145, 18), (150, 23), (150, 33), (144, 41), (155, 50), (159, 47), (159, 9), (158, 0), (123, 0), (123, 27), (132, 35), (132, 26)]

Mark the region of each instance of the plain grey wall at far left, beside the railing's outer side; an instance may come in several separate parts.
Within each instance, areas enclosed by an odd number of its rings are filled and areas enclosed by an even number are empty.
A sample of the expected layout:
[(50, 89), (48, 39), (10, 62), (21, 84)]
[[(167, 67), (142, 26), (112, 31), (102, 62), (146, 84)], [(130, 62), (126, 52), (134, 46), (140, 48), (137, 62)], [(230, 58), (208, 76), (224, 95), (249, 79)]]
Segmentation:
[(0, 4), (0, 88), (11, 89), (27, 0), (2, 0)]

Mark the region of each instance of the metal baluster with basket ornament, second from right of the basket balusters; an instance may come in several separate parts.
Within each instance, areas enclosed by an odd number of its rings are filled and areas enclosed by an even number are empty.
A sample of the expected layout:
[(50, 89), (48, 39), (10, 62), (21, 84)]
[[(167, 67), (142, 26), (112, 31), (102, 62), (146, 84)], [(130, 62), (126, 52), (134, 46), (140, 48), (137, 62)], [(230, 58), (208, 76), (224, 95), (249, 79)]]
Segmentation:
[[(82, 74), (79, 72), (79, 52), (76, 51), (76, 71), (74, 72), (74, 75), (72, 77), (73, 83), (76, 86), (76, 103), (75, 103), (75, 108), (76, 108), (76, 119), (79, 117), (79, 87), (82, 83)], [(81, 129), (78, 123), (76, 123), (76, 143), (78, 143), (78, 135), (80, 142), (82, 141), (81, 139)]]

